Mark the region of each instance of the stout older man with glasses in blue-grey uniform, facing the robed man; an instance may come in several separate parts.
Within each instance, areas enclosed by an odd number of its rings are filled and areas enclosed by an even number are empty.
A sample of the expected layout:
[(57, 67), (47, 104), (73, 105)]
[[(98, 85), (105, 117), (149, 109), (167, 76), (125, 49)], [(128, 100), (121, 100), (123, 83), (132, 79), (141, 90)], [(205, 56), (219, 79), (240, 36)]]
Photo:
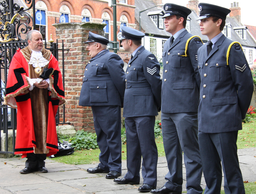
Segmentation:
[(121, 175), (121, 105), (125, 94), (124, 62), (109, 52), (109, 40), (89, 32), (87, 49), (91, 60), (84, 71), (79, 105), (91, 106), (100, 148), (100, 164), (89, 173), (108, 173), (106, 178)]

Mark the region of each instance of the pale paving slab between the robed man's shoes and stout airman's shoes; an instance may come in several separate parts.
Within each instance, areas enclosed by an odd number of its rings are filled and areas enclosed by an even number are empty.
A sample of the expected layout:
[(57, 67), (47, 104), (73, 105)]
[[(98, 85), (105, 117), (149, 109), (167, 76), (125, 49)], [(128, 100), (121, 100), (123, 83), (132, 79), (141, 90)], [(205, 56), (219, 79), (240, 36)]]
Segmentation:
[(100, 174), (91, 174), (84, 170), (71, 170), (64, 172), (48, 172), (48, 173), (38, 173), (39, 176), (48, 178), (52, 181), (66, 181), (66, 180), (76, 180), (81, 178), (91, 178), (100, 177)]

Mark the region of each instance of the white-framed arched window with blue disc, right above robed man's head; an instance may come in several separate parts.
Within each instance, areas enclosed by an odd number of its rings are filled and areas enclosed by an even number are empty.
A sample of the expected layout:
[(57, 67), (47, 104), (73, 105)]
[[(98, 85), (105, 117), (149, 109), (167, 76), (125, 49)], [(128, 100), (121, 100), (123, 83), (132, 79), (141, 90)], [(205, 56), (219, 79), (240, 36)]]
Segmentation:
[(47, 40), (47, 10), (45, 2), (36, 2), (36, 30), (41, 32), (43, 40)]

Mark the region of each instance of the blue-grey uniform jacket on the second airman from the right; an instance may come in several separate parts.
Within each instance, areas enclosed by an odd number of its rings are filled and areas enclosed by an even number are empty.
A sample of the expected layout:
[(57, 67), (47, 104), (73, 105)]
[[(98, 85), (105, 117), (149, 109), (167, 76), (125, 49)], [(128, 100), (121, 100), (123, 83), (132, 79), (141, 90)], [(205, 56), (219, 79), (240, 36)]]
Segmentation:
[(162, 112), (197, 112), (199, 102), (200, 76), (197, 67), (197, 50), (203, 45), (198, 37), (188, 44), (193, 36), (187, 30), (176, 38), (170, 47), (169, 38), (163, 48)]

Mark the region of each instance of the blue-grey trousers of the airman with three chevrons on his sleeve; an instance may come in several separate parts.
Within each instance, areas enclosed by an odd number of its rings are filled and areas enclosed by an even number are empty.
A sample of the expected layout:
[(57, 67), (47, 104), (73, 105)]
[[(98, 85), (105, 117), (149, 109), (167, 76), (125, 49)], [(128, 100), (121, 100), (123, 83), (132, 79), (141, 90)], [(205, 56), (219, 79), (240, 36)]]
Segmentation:
[(156, 186), (156, 166), (158, 160), (155, 142), (155, 116), (126, 117), (127, 169), (125, 178), (140, 182), (140, 164), (142, 161), (143, 183)]

